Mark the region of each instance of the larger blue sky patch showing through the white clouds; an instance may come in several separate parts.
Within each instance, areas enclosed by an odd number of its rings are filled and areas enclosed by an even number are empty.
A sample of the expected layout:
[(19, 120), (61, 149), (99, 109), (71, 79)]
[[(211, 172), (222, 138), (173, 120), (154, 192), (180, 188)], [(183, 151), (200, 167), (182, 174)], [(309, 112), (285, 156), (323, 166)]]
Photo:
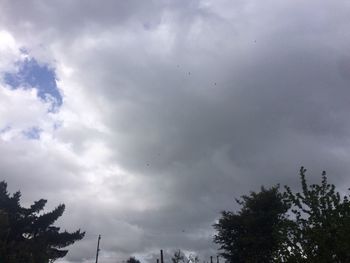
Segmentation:
[(13, 89), (19, 87), (35, 87), (38, 96), (50, 101), (53, 99), (53, 107), (62, 105), (62, 96), (56, 85), (55, 71), (48, 65), (40, 65), (34, 58), (25, 59), (19, 65), (15, 73), (5, 73), (5, 82)]

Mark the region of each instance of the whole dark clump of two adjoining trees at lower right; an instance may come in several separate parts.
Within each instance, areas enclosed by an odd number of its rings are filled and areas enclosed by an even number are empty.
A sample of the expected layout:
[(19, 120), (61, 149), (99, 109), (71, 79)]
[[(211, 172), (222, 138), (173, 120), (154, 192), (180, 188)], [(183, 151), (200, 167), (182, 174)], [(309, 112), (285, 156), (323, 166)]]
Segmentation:
[(237, 200), (239, 212), (222, 212), (214, 242), (228, 262), (350, 262), (349, 195), (337, 192), (325, 172), (321, 184), (311, 185), (305, 173), (301, 167), (301, 192), (262, 188)]

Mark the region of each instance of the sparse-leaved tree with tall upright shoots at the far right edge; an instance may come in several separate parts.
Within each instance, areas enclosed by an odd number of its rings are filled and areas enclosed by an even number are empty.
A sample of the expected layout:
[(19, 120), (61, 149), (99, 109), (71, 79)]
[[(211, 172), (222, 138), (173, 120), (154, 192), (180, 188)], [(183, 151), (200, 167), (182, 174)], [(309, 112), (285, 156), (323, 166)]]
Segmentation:
[(305, 173), (301, 167), (301, 193), (286, 186), (285, 199), (295, 217), (286, 262), (350, 262), (349, 196), (341, 197), (325, 172), (320, 185), (308, 185)]

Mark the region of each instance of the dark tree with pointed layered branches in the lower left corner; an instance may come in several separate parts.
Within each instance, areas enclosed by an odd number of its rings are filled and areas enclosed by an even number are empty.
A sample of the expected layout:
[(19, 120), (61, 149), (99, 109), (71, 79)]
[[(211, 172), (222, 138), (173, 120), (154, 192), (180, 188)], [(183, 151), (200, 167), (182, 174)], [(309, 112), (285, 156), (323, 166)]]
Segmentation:
[(64, 257), (62, 248), (84, 237), (85, 232), (59, 232), (52, 224), (62, 216), (65, 206), (42, 213), (47, 200), (40, 199), (29, 208), (20, 205), (21, 193), (12, 196), (7, 184), (0, 182), (0, 262), (47, 263)]

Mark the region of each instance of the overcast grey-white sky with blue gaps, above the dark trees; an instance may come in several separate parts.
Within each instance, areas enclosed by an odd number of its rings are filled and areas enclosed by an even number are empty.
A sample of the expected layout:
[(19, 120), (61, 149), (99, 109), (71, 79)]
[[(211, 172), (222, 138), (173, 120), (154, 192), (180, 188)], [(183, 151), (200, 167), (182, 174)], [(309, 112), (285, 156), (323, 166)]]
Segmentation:
[(347, 0), (0, 0), (0, 170), (61, 263), (216, 255), (234, 199), (350, 186)]

